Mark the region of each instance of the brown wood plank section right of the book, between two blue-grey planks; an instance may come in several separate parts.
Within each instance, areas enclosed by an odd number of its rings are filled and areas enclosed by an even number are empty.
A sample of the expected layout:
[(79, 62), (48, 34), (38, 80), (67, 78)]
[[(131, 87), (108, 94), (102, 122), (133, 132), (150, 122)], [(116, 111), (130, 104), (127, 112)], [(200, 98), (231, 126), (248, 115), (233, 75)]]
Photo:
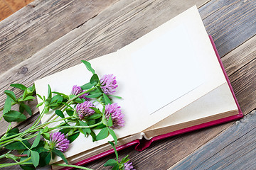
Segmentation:
[(222, 58), (244, 114), (256, 108), (256, 35)]

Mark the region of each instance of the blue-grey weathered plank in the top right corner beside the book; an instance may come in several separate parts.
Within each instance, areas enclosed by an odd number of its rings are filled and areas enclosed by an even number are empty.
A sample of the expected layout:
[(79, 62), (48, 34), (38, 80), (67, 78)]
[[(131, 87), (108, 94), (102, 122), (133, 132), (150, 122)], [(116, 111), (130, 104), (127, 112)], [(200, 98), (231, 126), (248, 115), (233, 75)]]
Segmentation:
[(199, 11), (220, 57), (256, 34), (255, 0), (212, 0)]

